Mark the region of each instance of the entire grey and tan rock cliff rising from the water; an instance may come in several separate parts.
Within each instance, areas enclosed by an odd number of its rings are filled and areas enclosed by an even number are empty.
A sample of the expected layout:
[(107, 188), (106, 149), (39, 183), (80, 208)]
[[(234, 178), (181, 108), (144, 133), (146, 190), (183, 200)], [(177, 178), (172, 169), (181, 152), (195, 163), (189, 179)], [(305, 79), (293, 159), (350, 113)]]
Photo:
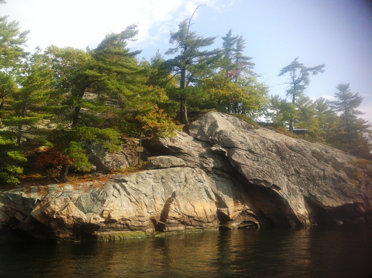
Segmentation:
[(118, 239), (371, 219), (371, 181), (347, 175), (356, 157), (323, 144), (217, 112), (202, 115), (187, 133), (142, 142), (149, 162), (140, 172), (0, 192), (0, 232)]

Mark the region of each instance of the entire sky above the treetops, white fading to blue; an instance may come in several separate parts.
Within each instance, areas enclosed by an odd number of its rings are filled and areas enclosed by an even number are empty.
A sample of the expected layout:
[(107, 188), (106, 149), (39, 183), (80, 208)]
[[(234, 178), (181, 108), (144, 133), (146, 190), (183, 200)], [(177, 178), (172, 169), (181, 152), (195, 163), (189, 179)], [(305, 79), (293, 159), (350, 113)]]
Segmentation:
[[(28, 51), (37, 46), (95, 48), (111, 32), (138, 24), (130, 50), (142, 50), (150, 61), (159, 49), (167, 51), (170, 32), (196, 7), (192, 31), (221, 37), (232, 29), (246, 40), (245, 55), (254, 72), (285, 98), (288, 76), (280, 69), (296, 57), (307, 67), (325, 64), (325, 72), (310, 76), (306, 94), (335, 100), (336, 86), (350, 83), (364, 97), (361, 118), (372, 123), (372, 1), (371, 0), (6, 0), (0, 16), (30, 30)], [(164, 55), (165, 59), (171, 58)]]

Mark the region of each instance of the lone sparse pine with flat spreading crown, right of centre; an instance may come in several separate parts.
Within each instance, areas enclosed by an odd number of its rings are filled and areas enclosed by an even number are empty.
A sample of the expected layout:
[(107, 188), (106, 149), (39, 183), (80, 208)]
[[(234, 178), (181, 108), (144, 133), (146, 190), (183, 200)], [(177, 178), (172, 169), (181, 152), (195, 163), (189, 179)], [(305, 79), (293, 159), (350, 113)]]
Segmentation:
[[(294, 59), (292, 63), (283, 67), (280, 70), (278, 76), (283, 76), (287, 73), (290, 75), (290, 81), (286, 84), (289, 84), (287, 89), (287, 97), (291, 97), (292, 104), (296, 105), (297, 98), (302, 96), (307, 89), (307, 86), (310, 84), (310, 73), (312, 75), (317, 75), (318, 73), (324, 72), (325, 64), (317, 65), (314, 67), (306, 67), (303, 63), (297, 61), (298, 57)], [(294, 119), (289, 121), (289, 130), (293, 131), (293, 122)]]

